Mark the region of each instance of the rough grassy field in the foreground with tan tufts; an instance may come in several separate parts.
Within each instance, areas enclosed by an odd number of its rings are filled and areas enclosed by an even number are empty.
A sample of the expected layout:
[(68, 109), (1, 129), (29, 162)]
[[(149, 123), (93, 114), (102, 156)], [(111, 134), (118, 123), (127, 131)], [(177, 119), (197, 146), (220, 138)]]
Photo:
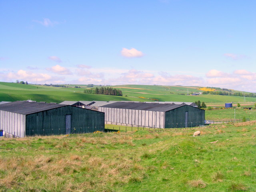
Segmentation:
[[(195, 130), (201, 136), (193, 137)], [(256, 191), (256, 121), (0, 140), (0, 190)]]

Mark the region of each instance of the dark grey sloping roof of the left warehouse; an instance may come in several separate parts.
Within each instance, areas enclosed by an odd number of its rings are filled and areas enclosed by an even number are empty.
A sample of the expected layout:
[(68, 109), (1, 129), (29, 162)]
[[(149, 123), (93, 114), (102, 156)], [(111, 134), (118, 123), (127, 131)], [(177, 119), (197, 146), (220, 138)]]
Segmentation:
[(43, 102), (15, 101), (0, 105), (0, 110), (27, 115), (63, 106), (66, 105)]

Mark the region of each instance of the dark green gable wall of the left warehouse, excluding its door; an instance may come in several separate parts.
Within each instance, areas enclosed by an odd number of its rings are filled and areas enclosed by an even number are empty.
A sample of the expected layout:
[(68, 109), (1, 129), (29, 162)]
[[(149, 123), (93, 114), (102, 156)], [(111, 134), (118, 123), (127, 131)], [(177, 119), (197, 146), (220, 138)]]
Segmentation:
[(104, 113), (64, 106), (26, 116), (26, 136), (66, 134), (66, 115), (71, 115), (71, 133), (104, 131)]

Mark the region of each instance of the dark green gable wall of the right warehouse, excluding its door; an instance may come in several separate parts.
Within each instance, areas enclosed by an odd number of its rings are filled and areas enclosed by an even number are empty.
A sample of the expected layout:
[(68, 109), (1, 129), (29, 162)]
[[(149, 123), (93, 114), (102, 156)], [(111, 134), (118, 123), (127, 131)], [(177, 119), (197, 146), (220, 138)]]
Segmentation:
[(204, 125), (205, 111), (193, 106), (185, 105), (166, 112), (165, 128), (180, 128), (186, 125), (186, 112), (188, 112), (187, 126)]

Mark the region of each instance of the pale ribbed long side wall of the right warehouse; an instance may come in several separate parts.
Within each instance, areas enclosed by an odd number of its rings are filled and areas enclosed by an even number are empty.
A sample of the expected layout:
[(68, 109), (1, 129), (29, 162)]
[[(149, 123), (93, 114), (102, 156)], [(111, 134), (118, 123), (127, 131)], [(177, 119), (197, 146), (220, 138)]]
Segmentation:
[(99, 107), (110, 124), (164, 128), (164, 112)]

